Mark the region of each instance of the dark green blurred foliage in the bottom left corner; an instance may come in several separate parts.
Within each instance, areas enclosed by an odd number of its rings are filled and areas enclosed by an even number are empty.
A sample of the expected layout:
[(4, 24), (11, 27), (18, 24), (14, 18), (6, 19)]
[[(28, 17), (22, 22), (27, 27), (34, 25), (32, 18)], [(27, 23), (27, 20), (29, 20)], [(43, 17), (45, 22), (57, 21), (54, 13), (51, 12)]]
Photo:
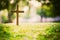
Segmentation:
[[(4, 28), (5, 27), (5, 28)], [(7, 29), (6, 29), (7, 28)], [(0, 25), (0, 40), (9, 40), (9, 37), (10, 37), (10, 33), (7, 32), (6, 30), (10, 30), (8, 27), (6, 27), (5, 25)]]

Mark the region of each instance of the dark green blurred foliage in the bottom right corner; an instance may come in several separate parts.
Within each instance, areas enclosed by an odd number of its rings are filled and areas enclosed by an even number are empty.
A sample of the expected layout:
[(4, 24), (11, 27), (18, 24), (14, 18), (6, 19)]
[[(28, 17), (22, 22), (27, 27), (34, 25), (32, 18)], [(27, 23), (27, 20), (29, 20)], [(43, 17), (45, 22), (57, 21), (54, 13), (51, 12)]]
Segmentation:
[(60, 25), (55, 24), (45, 30), (45, 34), (40, 33), (37, 40), (60, 40)]

